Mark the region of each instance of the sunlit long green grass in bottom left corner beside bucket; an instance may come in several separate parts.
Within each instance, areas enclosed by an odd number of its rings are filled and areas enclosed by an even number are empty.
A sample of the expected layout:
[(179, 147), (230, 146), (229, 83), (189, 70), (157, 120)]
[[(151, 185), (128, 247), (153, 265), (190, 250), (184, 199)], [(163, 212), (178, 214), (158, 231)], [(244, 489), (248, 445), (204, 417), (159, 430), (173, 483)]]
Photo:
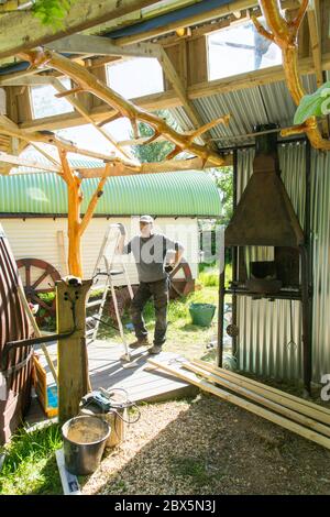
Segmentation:
[(19, 430), (1, 448), (0, 493), (8, 495), (62, 494), (55, 451), (62, 447), (58, 425), (28, 432)]

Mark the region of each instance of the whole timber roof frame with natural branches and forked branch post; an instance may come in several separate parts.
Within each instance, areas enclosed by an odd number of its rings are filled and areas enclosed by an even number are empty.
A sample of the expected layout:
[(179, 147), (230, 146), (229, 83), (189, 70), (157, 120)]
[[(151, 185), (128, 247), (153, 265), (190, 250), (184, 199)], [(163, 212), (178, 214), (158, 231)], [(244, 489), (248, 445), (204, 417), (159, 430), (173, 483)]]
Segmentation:
[[(66, 182), (69, 193), (68, 262), (69, 272), (76, 276), (82, 276), (80, 239), (109, 176), (187, 170), (231, 163), (230, 156), (220, 155), (221, 144), (217, 146), (210, 134), (215, 125), (230, 123), (230, 114), (219, 113), (221, 116), (219, 119), (205, 124), (194, 103), (196, 99), (286, 79), (294, 101), (298, 103), (304, 95), (299, 75), (315, 74), (320, 85), (324, 79), (323, 72), (330, 69), (330, 38), (324, 30), (329, 22), (330, 0), (317, 0), (312, 6), (309, 6), (307, 0), (260, 0), (258, 4), (256, 0), (238, 0), (197, 16), (165, 24), (157, 30), (119, 37), (116, 41), (102, 37), (100, 34), (111, 25), (114, 28), (118, 24), (130, 24), (125, 18), (120, 16), (130, 16), (140, 10), (143, 18), (141, 9), (154, 4), (155, 0), (123, 1), (117, 10), (113, 9), (114, 2), (100, 1), (87, 13), (84, 9), (87, 9), (89, 3), (87, 0), (79, 0), (75, 4), (65, 22), (65, 30), (61, 33), (51, 34), (45, 28), (36, 30), (33, 20), (30, 20), (31, 25), (26, 25), (26, 19), (16, 13), (4, 16), (0, 35), (0, 59), (16, 54), (16, 57), (29, 63), (25, 69), (0, 75), (0, 88), (7, 94), (7, 114), (0, 114), (1, 169), (2, 173), (10, 174), (13, 165), (36, 166), (36, 163), (20, 157), (21, 152), (32, 144), (48, 160), (50, 164), (43, 165), (43, 168), (59, 174)], [(279, 7), (285, 9), (285, 18), (279, 14)], [(79, 15), (78, 9), (81, 9)], [(257, 21), (262, 13), (270, 30), (265, 30)], [(208, 80), (206, 35), (231, 23), (249, 19), (253, 20), (261, 34), (282, 48), (284, 67), (277, 66), (235, 77)], [(107, 25), (99, 25), (105, 21)], [(6, 40), (11, 23), (15, 23), (15, 34), (20, 24), (22, 31), (19, 31), (19, 34), (31, 33), (29, 43), (25, 41), (23, 44), (20, 36), (14, 41), (8, 37)], [(96, 35), (92, 31), (97, 24), (99, 26)], [(78, 31), (85, 32), (78, 34)], [(40, 44), (43, 47), (37, 46)], [(70, 56), (61, 55), (64, 52)], [(133, 103), (107, 85), (107, 65), (132, 56), (158, 59), (165, 79), (163, 92), (135, 99)], [(70, 78), (69, 89), (61, 82), (59, 78), (63, 76)], [(56, 91), (55, 96), (66, 98), (74, 111), (34, 119), (30, 89), (40, 85), (51, 85)], [(150, 112), (177, 106), (184, 108), (191, 124), (190, 131), (184, 134), (173, 130), (163, 119)], [(117, 142), (105, 128), (108, 122), (120, 117), (128, 117), (131, 121), (134, 139), (130, 142)], [(150, 124), (154, 130), (153, 136), (143, 142), (138, 131), (139, 121)], [(73, 142), (52, 133), (56, 129), (80, 124), (91, 124), (111, 144), (111, 148), (116, 148), (116, 155), (78, 148)], [(322, 121), (321, 131), (322, 134), (316, 120), (311, 119), (302, 127), (284, 129), (283, 134), (306, 132), (315, 147), (330, 148), (327, 120)], [(140, 164), (132, 157), (129, 145), (146, 144), (160, 139), (174, 144), (165, 163)], [(58, 158), (48, 154), (40, 143), (55, 146)], [(195, 157), (173, 162), (172, 158), (182, 151), (187, 151)], [(92, 169), (73, 170), (67, 161), (68, 152), (98, 158), (101, 165)], [(86, 215), (80, 219), (82, 199), (80, 186), (84, 178), (90, 177), (99, 178), (99, 186)]]

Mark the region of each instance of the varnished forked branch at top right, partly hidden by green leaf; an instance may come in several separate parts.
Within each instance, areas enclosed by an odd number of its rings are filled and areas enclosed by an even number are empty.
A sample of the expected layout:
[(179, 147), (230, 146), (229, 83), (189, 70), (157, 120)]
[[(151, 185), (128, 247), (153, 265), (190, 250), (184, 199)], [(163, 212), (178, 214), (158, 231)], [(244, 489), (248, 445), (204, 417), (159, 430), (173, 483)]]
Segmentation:
[[(298, 70), (297, 35), (306, 14), (308, 2), (309, 0), (302, 0), (295, 19), (287, 21), (280, 11), (279, 0), (258, 0), (270, 30), (266, 30), (255, 16), (251, 16), (257, 32), (276, 43), (282, 50), (286, 82), (297, 106), (305, 96)], [(287, 136), (297, 132), (305, 132), (315, 148), (330, 150), (330, 141), (322, 138), (316, 117), (306, 120), (300, 127), (283, 131), (282, 134)]]

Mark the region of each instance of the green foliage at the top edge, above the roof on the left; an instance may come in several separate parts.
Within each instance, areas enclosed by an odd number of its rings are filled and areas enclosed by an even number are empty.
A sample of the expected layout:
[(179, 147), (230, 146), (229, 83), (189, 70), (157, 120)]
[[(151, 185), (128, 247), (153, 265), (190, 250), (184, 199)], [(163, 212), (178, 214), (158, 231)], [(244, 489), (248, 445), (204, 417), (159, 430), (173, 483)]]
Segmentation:
[(64, 28), (64, 19), (77, 0), (36, 0), (32, 12), (43, 25), (53, 25), (56, 29)]

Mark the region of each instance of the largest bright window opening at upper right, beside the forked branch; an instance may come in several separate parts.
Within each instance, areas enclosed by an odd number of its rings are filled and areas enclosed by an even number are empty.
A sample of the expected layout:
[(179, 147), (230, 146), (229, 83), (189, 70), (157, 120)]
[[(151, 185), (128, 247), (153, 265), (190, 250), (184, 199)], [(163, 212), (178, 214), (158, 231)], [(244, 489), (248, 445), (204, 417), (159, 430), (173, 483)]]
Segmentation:
[[(264, 23), (263, 19), (260, 19)], [(249, 21), (208, 36), (209, 80), (282, 63), (280, 50), (261, 36)]]

